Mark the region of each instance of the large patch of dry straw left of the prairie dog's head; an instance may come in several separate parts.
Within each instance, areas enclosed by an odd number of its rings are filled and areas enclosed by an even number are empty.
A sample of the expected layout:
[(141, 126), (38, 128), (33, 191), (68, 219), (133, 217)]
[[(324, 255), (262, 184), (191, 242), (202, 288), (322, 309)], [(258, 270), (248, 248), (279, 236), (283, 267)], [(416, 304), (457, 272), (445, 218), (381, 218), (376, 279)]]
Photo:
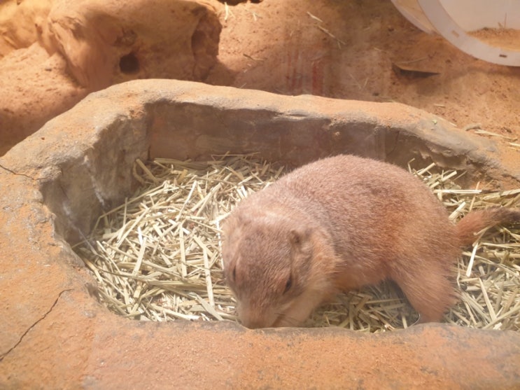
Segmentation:
[(251, 156), (209, 162), (138, 160), (141, 190), (99, 217), (78, 248), (101, 300), (134, 319), (235, 319), (223, 281), (220, 221), (282, 172)]

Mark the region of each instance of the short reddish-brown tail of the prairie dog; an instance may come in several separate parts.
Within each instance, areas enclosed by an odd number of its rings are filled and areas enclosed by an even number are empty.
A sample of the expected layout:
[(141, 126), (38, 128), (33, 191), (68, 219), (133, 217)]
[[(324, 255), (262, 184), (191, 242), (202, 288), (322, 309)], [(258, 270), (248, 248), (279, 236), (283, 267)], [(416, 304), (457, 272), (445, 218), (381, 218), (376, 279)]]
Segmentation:
[(475, 233), (480, 230), (497, 223), (514, 222), (520, 222), (520, 209), (492, 207), (491, 209), (471, 211), (456, 225), (458, 242), (461, 246), (470, 245), (475, 242), (475, 238), (477, 238)]

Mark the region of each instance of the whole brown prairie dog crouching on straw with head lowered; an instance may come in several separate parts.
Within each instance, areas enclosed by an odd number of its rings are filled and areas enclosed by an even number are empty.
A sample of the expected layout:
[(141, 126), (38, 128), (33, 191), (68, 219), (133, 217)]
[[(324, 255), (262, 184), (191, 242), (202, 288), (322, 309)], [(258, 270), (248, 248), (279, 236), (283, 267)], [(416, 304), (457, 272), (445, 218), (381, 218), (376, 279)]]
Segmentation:
[(298, 326), (341, 291), (392, 279), (421, 321), (456, 302), (461, 246), (520, 210), (474, 211), (457, 225), (404, 169), (338, 155), (240, 202), (223, 226), (227, 284), (244, 326)]

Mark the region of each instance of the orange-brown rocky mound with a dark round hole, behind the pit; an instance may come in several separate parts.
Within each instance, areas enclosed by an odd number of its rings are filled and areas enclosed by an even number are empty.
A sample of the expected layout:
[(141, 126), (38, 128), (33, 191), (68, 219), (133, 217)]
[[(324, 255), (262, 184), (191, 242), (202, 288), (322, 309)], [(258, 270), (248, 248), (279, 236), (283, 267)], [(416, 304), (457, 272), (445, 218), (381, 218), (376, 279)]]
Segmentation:
[(0, 5), (0, 155), (90, 92), (136, 78), (202, 81), (216, 63), (221, 27), (208, 4), (21, 3)]

